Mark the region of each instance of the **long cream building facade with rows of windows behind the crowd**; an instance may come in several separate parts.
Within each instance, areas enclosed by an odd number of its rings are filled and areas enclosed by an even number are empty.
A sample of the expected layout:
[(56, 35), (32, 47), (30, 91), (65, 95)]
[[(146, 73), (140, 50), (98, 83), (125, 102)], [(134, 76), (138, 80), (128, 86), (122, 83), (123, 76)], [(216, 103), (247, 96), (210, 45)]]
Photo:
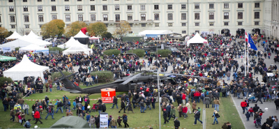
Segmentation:
[(0, 26), (21, 34), (24, 30), (39, 34), (40, 26), (51, 20), (61, 19), (66, 25), (79, 20), (104, 22), (112, 33), (125, 20), (132, 29), (130, 35), (150, 29), (170, 30), (182, 36), (196, 31), (236, 35), (257, 29), (258, 33), (264, 33), (265, 3), (264, 0), (0, 0)]

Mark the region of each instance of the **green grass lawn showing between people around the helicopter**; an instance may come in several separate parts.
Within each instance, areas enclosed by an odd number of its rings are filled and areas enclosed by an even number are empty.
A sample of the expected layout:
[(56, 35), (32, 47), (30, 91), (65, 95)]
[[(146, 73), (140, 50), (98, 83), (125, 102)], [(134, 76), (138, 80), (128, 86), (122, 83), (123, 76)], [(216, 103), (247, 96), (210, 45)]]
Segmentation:
[[(81, 86), (82, 88), (86, 87), (86, 86)], [(116, 93), (116, 95), (118, 94), (122, 94), (122, 93)], [(32, 99), (32, 100), (25, 100), (25, 102), (27, 104), (29, 104), (29, 107), (31, 108), (31, 105), (33, 105), (33, 103), (35, 103), (34, 100), (43, 100), (45, 98), (45, 96), (48, 96), (50, 98), (50, 100), (54, 100), (56, 98), (62, 99), (62, 96), (66, 95), (69, 99), (74, 99), (76, 96), (84, 96), (84, 94), (74, 94), (74, 93), (68, 93), (66, 91), (56, 91), (56, 89), (53, 89), (52, 93), (47, 92), (47, 93), (35, 93), (32, 94), (30, 97), (25, 98), (25, 99)], [(90, 99), (98, 99), (100, 98), (100, 93), (96, 93), (93, 94), (91, 96), (89, 96)], [(91, 107), (93, 105), (93, 103), (96, 103), (96, 100), (91, 100)], [(52, 103), (56, 103), (55, 101), (52, 101)], [(73, 100), (71, 100), (71, 103), (73, 103)], [(236, 111), (236, 108), (233, 106), (233, 102), (231, 98), (220, 98), (220, 118), (218, 119), (219, 124), (218, 125), (212, 125), (211, 123), (213, 123), (213, 118), (211, 117), (213, 114), (213, 108), (206, 108), (206, 119), (207, 119), (207, 123), (206, 123), (206, 128), (209, 129), (220, 129), (221, 126), (223, 125), (223, 123), (229, 121), (230, 123), (232, 123), (232, 128), (238, 128), (238, 129), (244, 129), (243, 123), (241, 122), (241, 119), (239, 117), (239, 114)], [(119, 108), (120, 108), (120, 100), (119, 100)], [(112, 115), (112, 117), (114, 119), (117, 118), (117, 116), (122, 116), (123, 111), (119, 114), (118, 111), (119, 109), (116, 109), (116, 107), (114, 107), (114, 109), (110, 109), (110, 107), (112, 107), (112, 104), (106, 104), (107, 106), (107, 113), (109, 115)], [(177, 103), (175, 103), (175, 107), (177, 107)], [(204, 105), (201, 103), (197, 103), (197, 107), (200, 107), (203, 109)], [(210, 105), (211, 107), (211, 105)], [(73, 105), (72, 105), (73, 108)], [(31, 109), (29, 109), (29, 114), (31, 113), (30, 111)], [(191, 109), (192, 111), (193, 109)], [(54, 111), (56, 111), (56, 108), (54, 108)], [(158, 109), (158, 103), (156, 103), (156, 109), (152, 109), (146, 110), (145, 114), (141, 114), (140, 113), (140, 108), (137, 107), (136, 109), (134, 109), (135, 114), (133, 114), (132, 112), (129, 112), (128, 115), (128, 124), (130, 125), (130, 128), (139, 128), (139, 127), (144, 127), (144, 128), (148, 128), (146, 126), (152, 126), (153, 128), (158, 128), (158, 115), (159, 115), (159, 109)], [(73, 111), (74, 116), (75, 116), (75, 111)], [(12, 121), (9, 121), (9, 119), (11, 118), (10, 112), (3, 112), (3, 106), (0, 106), (0, 128), (23, 128), (23, 126), (20, 126), (20, 123), (14, 123)], [(98, 112), (91, 112), (90, 115), (95, 115), (98, 114)], [(161, 114), (163, 115), (163, 112), (161, 112)], [(43, 124), (38, 124), (37, 126), (40, 128), (49, 128), (50, 126), (52, 126), (52, 124), (54, 124), (56, 121), (58, 121), (62, 116), (66, 116), (66, 113), (63, 111), (63, 114), (61, 112), (58, 112), (57, 114), (54, 114), (54, 120), (51, 119), (51, 116), (48, 116), (47, 120), (45, 120), (45, 116), (47, 114), (45, 112), (43, 112), (43, 114), (41, 114), (41, 117), (43, 118)], [(178, 116), (178, 112), (176, 112), (176, 116)], [(197, 125), (193, 125), (195, 118), (193, 117), (194, 114), (188, 114), (188, 118), (187, 119), (183, 119), (182, 117), (179, 118), (179, 121), (181, 121), (181, 126), (180, 128), (187, 128), (187, 129), (192, 129), (192, 128), (202, 128), (202, 125), (198, 122)], [(201, 114), (202, 117), (202, 114)], [(26, 119), (32, 119), (31, 114), (30, 115), (26, 115)], [(202, 118), (201, 118), (202, 120)], [(161, 123), (163, 125), (163, 116), (161, 116)], [(31, 121), (31, 128), (33, 128), (34, 125), (33, 123), (35, 123), (35, 121)], [(124, 124), (122, 123), (122, 126)], [(169, 126), (169, 127), (168, 127)], [(173, 119), (171, 119), (171, 121), (169, 121), (169, 123), (165, 124), (162, 126), (163, 129), (167, 129), (167, 128), (174, 128), (174, 122)]]

